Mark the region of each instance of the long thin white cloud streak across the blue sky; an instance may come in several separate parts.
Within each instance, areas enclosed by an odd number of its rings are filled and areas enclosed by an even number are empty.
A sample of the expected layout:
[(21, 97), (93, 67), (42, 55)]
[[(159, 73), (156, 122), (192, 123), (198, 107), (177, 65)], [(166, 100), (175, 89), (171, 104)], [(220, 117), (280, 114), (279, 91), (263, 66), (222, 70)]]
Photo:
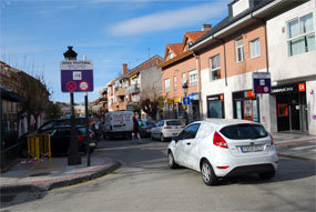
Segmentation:
[(112, 36), (136, 36), (169, 29), (179, 29), (223, 16), (227, 10), (225, 1), (203, 3), (179, 10), (169, 10), (154, 14), (122, 21), (109, 29)]

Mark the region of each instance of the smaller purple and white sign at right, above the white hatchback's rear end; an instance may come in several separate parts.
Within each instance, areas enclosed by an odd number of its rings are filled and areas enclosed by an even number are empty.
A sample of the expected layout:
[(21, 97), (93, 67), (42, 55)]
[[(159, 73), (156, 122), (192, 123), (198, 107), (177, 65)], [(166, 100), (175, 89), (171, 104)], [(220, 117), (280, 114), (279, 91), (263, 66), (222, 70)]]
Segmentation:
[(271, 74), (268, 72), (253, 72), (254, 93), (271, 93)]

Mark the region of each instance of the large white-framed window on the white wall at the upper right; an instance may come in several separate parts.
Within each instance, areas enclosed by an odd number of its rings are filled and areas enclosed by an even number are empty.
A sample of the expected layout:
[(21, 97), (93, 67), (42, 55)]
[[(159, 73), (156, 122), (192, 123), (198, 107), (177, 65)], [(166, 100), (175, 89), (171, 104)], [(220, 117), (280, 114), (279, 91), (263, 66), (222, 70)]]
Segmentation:
[(315, 29), (313, 13), (287, 22), (288, 55), (315, 51)]

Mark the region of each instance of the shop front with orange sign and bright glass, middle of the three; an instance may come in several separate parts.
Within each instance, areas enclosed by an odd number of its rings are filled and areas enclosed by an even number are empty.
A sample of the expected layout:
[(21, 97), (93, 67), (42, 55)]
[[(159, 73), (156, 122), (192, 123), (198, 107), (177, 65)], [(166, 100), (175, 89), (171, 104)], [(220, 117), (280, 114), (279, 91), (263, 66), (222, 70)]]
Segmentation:
[(234, 92), (233, 109), (234, 119), (259, 122), (259, 101), (252, 90)]

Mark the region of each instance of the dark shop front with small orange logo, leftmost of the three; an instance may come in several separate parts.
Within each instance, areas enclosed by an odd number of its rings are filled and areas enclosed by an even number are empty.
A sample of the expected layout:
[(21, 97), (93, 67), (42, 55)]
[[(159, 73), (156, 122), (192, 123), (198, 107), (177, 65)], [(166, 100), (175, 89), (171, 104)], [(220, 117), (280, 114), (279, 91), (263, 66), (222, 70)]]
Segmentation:
[(208, 95), (207, 102), (207, 118), (224, 119), (224, 94)]

